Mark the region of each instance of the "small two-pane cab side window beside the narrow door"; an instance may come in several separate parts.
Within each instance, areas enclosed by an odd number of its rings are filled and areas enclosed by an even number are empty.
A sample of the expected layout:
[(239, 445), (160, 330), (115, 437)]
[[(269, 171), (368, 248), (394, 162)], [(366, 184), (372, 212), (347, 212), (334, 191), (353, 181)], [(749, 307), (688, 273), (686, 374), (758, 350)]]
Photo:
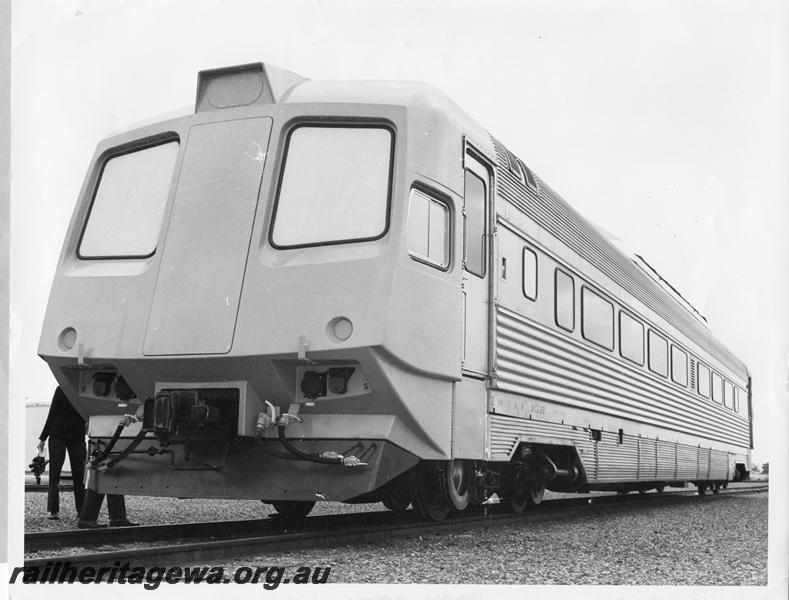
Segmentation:
[(408, 252), (440, 268), (449, 266), (449, 207), (413, 189), (408, 203)]

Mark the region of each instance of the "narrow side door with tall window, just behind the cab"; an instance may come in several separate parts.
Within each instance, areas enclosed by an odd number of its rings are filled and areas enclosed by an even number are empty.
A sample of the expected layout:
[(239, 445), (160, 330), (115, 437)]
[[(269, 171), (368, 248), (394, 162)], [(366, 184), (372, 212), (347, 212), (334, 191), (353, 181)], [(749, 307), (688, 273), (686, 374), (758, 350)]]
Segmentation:
[(485, 379), (489, 371), (491, 170), (466, 150), (463, 188), (463, 374)]

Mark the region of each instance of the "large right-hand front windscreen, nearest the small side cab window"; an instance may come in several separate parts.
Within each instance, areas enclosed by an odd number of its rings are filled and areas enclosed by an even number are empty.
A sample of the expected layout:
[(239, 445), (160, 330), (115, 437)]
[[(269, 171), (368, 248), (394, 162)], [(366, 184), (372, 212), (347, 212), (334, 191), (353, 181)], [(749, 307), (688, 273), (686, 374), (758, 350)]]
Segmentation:
[(293, 129), (272, 244), (294, 248), (382, 237), (388, 226), (393, 140), (385, 127)]

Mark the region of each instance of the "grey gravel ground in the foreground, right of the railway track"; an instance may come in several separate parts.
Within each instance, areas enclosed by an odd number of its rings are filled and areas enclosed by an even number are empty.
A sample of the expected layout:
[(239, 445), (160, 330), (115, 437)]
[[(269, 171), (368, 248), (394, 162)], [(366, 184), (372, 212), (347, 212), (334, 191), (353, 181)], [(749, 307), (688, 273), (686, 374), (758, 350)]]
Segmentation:
[(766, 585), (767, 494), (693, 500), (256, 556), (228, 569), (329, 566), (331, 583)]

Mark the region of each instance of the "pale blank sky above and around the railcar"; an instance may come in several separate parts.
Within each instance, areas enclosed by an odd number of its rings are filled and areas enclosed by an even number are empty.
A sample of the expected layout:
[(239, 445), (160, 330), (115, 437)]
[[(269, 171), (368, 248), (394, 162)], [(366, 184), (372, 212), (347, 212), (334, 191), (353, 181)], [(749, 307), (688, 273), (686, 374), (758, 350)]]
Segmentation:
[(12, 419), (51, 397), (38, 338), (98, 141), (191, 112), (201, 69), (263, 61), (447, 92), (707, 317), (751, 370), (754, 458), (786, 467), (788, 7), (15, 2)]

